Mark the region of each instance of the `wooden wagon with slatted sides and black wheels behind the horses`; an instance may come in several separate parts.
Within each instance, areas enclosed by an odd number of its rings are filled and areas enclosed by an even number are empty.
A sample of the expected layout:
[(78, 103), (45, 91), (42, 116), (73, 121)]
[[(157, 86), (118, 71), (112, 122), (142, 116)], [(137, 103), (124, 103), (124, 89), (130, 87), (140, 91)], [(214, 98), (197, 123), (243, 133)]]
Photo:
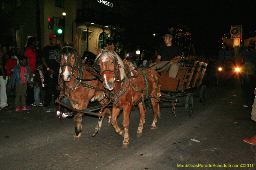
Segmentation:
[[(201, 104), (205, 104), (206, 87), (202, 84), (207, 63), (195, 61), (193, 64), (185, 64), (179, 67), (176, 78), (166, 77), (169, 75), (167, 70), (161, 72), (161, 105), (160, 107), (185, 106), (186, 116), (193, 113), (194, 96), (199, 96)], [(196, 88), (196, 93), (188, 93), (189, 89)], [(185, 97), (185, 99), (183, 98)], [(170, 102), (172, 101), (172, 102)]]

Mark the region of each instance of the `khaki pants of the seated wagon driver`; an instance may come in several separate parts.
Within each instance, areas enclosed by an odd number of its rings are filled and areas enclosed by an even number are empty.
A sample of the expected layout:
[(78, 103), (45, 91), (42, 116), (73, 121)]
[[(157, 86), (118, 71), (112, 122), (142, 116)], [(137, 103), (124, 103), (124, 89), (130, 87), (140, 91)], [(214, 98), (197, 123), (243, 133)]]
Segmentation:
[[(170, 61), (161, 61), (156, 66), (154, 65), (154, 63), (151, 63), (149, 65), (149, 67), (151, 69), (154, 69), (154, 70), (163, 67), (162, 69), (157, 70), (157, 72), (161, 72), (163, 70), (168, 70), (169, 69), (170, 64), (167, 64), (166, 66), (164, 66), (166, 63), (169, 63), (169, 62)], [(153, 67), (151, 67), (151, 66), (153, 66)], [(170, 70), (169, 70), (169, 77), (176, 78), (178, 71), (179, 71), (179, 63), (171, 64), (171, 67), (170, 67)]]

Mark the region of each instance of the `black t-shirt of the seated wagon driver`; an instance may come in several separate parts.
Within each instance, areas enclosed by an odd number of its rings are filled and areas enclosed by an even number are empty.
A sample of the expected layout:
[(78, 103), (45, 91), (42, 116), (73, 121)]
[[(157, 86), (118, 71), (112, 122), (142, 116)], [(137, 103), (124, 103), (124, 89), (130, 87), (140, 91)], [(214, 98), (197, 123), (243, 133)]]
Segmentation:
[(180, 48), (175, 45), (160, 47), (157, 55), (161, 56), (161, 61), (174, 60), (176, 57), (181, 56)]

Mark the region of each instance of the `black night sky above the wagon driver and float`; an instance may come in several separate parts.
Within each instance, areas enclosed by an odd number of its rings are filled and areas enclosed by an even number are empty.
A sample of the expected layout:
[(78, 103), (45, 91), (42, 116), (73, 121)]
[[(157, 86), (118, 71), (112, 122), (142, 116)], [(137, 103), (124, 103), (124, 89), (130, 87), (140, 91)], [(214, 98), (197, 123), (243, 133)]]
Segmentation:
[(220, 40), (231, 26), (242, 25), (244, 36), (256, 31), (255, 1), (138, 1), (138, 20), (152, 26), (159, 36), (168, 28), (186, 25), (192, 33), (197, 55), (216, 55)]

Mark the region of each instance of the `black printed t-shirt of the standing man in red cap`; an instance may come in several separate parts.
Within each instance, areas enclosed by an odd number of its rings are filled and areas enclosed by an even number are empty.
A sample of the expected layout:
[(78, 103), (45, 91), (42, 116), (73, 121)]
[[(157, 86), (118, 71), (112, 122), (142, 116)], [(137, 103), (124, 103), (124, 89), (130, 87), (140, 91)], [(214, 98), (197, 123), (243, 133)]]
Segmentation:
[(56, 62), (55, 56), (59, 51), (60, 47), (58, 46), (46, 46), (42, 49), (42, 58), (45, 58), (47, 66), (54, 71), (58, 71), (59, 63)]

